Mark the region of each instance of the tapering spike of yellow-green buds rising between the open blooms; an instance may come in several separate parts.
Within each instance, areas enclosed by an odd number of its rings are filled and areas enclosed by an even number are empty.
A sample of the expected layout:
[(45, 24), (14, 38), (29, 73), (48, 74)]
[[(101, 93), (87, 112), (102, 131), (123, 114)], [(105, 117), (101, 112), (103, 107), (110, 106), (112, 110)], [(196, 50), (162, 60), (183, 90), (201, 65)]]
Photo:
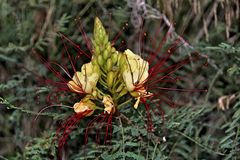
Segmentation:
[[(127, 90), (120, 73), (126, 59), (109, 42), (109, 36), (99, 18), (95, 18), (92, 46), (92, 63), (100, 68), (99, 83), (111, 93), (113, 100), (125, 95)], [(94, 95), (98, 98), (104, 96), (99, 93)]]

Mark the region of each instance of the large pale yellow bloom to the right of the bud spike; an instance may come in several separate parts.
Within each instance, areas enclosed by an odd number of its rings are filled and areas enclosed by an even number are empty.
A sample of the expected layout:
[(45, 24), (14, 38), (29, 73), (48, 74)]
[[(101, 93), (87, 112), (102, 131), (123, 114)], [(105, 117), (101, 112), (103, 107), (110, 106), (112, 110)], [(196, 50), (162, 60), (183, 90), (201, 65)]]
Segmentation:
[(149, 64), (140, 56), (127, 49), (123, 53), (126, 57), (123, 80), (128, 91), (133, 91), (137, 85), (142, 85), (148, 77)]

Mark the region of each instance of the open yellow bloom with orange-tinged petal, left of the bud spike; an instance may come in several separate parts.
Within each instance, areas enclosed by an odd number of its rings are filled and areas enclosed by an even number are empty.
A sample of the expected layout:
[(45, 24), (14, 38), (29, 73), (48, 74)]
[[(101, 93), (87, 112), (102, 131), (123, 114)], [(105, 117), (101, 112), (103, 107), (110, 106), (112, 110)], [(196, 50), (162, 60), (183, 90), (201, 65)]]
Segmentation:
[(99, 79), (99, 68), (91, 62), (82, 66), (81, 72), (77, 71), (72, 80), (68, 82), (70, 90), (77, 93), (92, 93)]

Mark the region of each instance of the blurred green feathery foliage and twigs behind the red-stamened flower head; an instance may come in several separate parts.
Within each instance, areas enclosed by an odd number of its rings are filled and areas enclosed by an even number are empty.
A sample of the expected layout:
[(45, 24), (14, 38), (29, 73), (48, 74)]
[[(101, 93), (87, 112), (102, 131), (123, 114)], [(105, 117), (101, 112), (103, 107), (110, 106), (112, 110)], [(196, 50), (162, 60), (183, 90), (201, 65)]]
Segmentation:
[[(239, 8), (238, 0), (1, 0), (0, 159), (56, 158), (55, 131), (71, 111), (50, 109), (34, 121), (37, 112), (46, 106), (45, 96), (49, 92), (38, 84), (36, 75), (54, 77), (32, 49), (61, 63), (62, 44), (57, 33), (62, 32), (84, 46), (76, 22), (91, 37), (96, 16), (111, 37), (127, 22), (129, 28), (118, 43), (127, 39), (128, 47), (135, 50), (139, 48), (135, 37), (141, 30), (142, 19), (144, 30), (156, 41), (161, 40), (169, 28), (168, 22), (172, 22), (174, 30), (166, 46), (178, 36), (189, 44), (184, 42), (179, 54), (170, 61), (198, 51), (208, 64), (180, 71), (179, 75), (184, 75), (191, 70), (192, 75), (187, 86), (176, 86), (207, 88), (208, 93), (191, 95), (190, 100), (188, 95), (183, 106), (165, 109), (164, 124), (161, 118), (154, 117), (156, 129), (151, 135), (139, 116), (144, 110), (125, 111), (130, 121), (116, 118), (111, 145), (96, 145), (94, 138), (83, 145), (83, 122), (70, 135), (63, 158), (239, 159)], [(182, 95), (174, 92), (172, 96), (179, 99)]]

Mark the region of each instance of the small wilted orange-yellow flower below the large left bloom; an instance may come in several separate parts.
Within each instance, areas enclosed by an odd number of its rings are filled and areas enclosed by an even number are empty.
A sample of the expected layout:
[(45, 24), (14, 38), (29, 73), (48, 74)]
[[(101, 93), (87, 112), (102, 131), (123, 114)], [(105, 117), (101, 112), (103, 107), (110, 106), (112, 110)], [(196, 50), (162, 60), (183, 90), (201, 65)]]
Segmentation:
[(86, 116), (91, 116), (94, 112), (94, 106), (95, 104), (91, 100), (81, 100), (78, 103), (75, 103), (73, 106), (73, 109), (76, 113), (82, 113), (87, 110), (92, 110), (90, 113), (88, 113)]

